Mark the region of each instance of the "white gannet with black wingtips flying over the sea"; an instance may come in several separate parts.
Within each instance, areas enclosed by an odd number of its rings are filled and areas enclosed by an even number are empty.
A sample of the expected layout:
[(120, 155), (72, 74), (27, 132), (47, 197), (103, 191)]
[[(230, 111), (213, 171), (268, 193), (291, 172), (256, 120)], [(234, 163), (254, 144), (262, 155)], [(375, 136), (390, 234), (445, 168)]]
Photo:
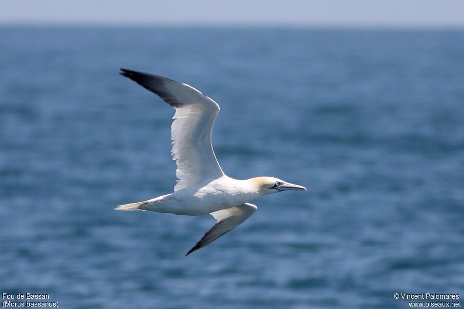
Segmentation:
[(248, 202), (271, 193), (306, 190), (274, 177), (237, 180), (224, 174), (212, 149), (211, 132), (219, 105), (188, 84), (121, 69), (130, 78), (175, 108), (171, 125), (172, 160), (176, 161), (174, 192), (120, 205), (118, 210), (150, 210), (176, 215), (211, 214), (217, 223), (187, 252), (204, 247), (247, 220), (257, 207)]

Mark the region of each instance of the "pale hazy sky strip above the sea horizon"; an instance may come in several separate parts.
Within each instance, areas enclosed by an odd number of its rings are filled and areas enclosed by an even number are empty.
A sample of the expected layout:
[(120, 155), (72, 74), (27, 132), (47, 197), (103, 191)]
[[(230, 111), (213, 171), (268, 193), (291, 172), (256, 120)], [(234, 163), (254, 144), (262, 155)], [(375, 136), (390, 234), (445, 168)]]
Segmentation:
[(464, 27), (464, 0), (0, 0), (0, 23)]

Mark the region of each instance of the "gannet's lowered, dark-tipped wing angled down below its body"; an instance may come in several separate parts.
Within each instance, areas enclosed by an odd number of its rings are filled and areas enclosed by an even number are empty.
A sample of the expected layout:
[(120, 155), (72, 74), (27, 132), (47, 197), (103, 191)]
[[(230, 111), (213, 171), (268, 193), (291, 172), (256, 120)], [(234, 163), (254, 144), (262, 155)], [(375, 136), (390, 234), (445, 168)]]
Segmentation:
[(203, 236), (202, 239), (187, 252), (186, 256), (191, 252), (198, 250), (201, 247), (205, 247), (213, 240), (221, 237), (232, 228), (245, 222), (250, 216), (256, 211), (257, 207), (250, 203), (245, 203), (239, 206), (221, 209), (218, 211), (211, 212), (217, 223)]

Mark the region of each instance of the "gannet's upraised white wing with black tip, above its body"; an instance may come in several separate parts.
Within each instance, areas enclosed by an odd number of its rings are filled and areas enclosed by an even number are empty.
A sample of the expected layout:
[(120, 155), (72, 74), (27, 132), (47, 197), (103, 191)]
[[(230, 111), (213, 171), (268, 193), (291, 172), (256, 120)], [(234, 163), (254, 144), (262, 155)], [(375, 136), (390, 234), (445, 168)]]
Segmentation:
[(178, 178), (174, 191), (224, 175), (211, 145), (212, 127), (219, 105), (188, 84), (121, 70), (121, 75), (142, 85), (176, 109), (171, 125), (171, 155), (172, 160), (176, 160)]

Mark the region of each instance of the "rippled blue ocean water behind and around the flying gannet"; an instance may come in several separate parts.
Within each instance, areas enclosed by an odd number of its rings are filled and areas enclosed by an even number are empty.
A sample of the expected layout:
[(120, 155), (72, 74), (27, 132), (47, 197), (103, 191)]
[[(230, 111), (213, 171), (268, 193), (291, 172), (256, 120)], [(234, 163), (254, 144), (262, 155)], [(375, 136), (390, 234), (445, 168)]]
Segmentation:
[[(0, 293), (62, 308), (408, 308), (464, 295), (464, 31), (0, 28)], [(305, 185), (185, 253), (173, 109), (119, 67), (221, 105), (229, 176)], [(463, 296), (464, 297), (464, 296)], [(2, 300), (3, 301), (3, 300)]]

